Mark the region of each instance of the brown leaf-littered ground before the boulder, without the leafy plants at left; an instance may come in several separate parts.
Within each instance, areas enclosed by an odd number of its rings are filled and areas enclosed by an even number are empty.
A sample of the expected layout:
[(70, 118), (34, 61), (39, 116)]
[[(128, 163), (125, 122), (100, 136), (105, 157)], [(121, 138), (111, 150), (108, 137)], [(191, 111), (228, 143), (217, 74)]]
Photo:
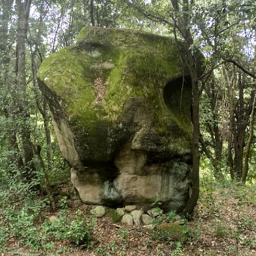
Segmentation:
[[(201, 186), (200, 200), (192, 219), (177, 234), (157, 226), (150, 230), (142, 226), (113, 224), (109, 211), (97, 219), (89, 249), (86, 245), (75, 246), (68, 239), (53, 239), (49, 247), (31, 249), (26, 238), (10, 232), (2, 245), (2, 252), (0, 248), (0, 255), (256, 255), (255, 200), (255, 185), (252, 189), (242, 185), (225, 187), (207, 183)], [(63, 207), (64, 201), (60, 201)], [(80, 213), (92, 218), (89, 213), (92, 206), (79, 200), (64, 203), (67, 216), (74, 216), (79, 209)], [(46, 211), (43, 218), (51, 215)], [(42, 217), (36, 225), (40, 223)], [(34, 236), (39, 234), (39, 229)]]

